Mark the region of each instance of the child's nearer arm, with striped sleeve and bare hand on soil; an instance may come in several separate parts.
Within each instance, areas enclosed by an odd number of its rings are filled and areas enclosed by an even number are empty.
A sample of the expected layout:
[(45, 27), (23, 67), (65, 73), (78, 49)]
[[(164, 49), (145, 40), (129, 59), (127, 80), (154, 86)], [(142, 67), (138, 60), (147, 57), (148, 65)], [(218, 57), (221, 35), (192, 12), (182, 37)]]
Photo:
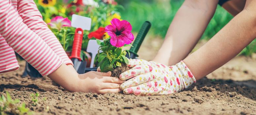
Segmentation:
[(120, 91), (123, 82), (104, 77), (111, 73), (89, 72), (79, 75), (70, 65), (63, 64), (54, 51), (22, 22), (9, 0), (0, 0), (0, 34), (21, 57), (43, 76), (49, 75), (68, 91), (107, 93)]

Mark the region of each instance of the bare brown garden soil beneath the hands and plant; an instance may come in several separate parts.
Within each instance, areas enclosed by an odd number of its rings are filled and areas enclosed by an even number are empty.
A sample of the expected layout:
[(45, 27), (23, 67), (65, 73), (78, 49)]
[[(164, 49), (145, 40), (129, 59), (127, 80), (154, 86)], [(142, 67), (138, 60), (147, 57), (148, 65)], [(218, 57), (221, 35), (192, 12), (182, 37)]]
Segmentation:
[[(240, 65), (255, 63), (251, 58), (237, 57), (180, 93), (134, 96), (69, 93), (47, 77), (21, 78), (25, 64), (21, 61), (18, 70), (0, 74), (0, 89), (1, 94), (8, 90), (13, 99), (38, 114), (256, 114), (256, 73), (252, 71), (256, 66), (240, 69)], [(234, 81), (214, 80), (231, 77)], [(31, 105), (33, 92), (40, 94), (36, 106)]]

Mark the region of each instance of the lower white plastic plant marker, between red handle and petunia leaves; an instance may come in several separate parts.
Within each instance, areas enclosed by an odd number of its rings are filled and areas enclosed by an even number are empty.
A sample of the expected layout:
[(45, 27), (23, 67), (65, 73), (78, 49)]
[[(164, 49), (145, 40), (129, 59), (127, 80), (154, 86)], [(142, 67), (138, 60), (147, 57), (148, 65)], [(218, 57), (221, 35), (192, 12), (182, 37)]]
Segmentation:
[[(103, 40), (100, 40), (100, 41), (102, 42)], [(98, 54), (98, 50), (99, 50), (99, 45), (97, 44), (97, 41), (96, 40), (92, 40), (92, 39), (89, 40), (86, 51), (88, 53), (91, 53), (91, 65), (90, 65), (90, 68), (93, 67), (94, 59), (95, 59), (96, 55)]]

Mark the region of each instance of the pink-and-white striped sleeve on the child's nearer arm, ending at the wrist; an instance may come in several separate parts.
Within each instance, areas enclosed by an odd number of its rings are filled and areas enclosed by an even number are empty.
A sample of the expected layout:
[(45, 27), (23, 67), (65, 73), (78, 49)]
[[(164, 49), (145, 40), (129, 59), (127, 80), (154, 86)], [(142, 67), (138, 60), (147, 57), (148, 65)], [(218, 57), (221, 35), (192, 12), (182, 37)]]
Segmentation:
[(49, 75), (62, 64), (45, 41), (22, 22), (9, 0), (0, 0), (0, 17), (0, 34), (42, 76)]

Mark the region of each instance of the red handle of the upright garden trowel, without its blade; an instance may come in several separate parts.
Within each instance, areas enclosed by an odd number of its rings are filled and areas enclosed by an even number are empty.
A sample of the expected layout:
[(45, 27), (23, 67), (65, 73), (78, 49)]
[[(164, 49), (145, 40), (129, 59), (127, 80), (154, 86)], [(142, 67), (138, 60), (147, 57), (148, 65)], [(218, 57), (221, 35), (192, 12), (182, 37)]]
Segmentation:
[[(81, 33), (78, 33), (78, 32), (81, 32)], [(80, 54), (82, 49), (83, 32), (84, 31), (82, 28), (77, 28), (75, 31), (72, 52), (71, 52), (71, 56), (69, 57), (70, 59), (77, 58), (79, 61), (81, 61)]]

